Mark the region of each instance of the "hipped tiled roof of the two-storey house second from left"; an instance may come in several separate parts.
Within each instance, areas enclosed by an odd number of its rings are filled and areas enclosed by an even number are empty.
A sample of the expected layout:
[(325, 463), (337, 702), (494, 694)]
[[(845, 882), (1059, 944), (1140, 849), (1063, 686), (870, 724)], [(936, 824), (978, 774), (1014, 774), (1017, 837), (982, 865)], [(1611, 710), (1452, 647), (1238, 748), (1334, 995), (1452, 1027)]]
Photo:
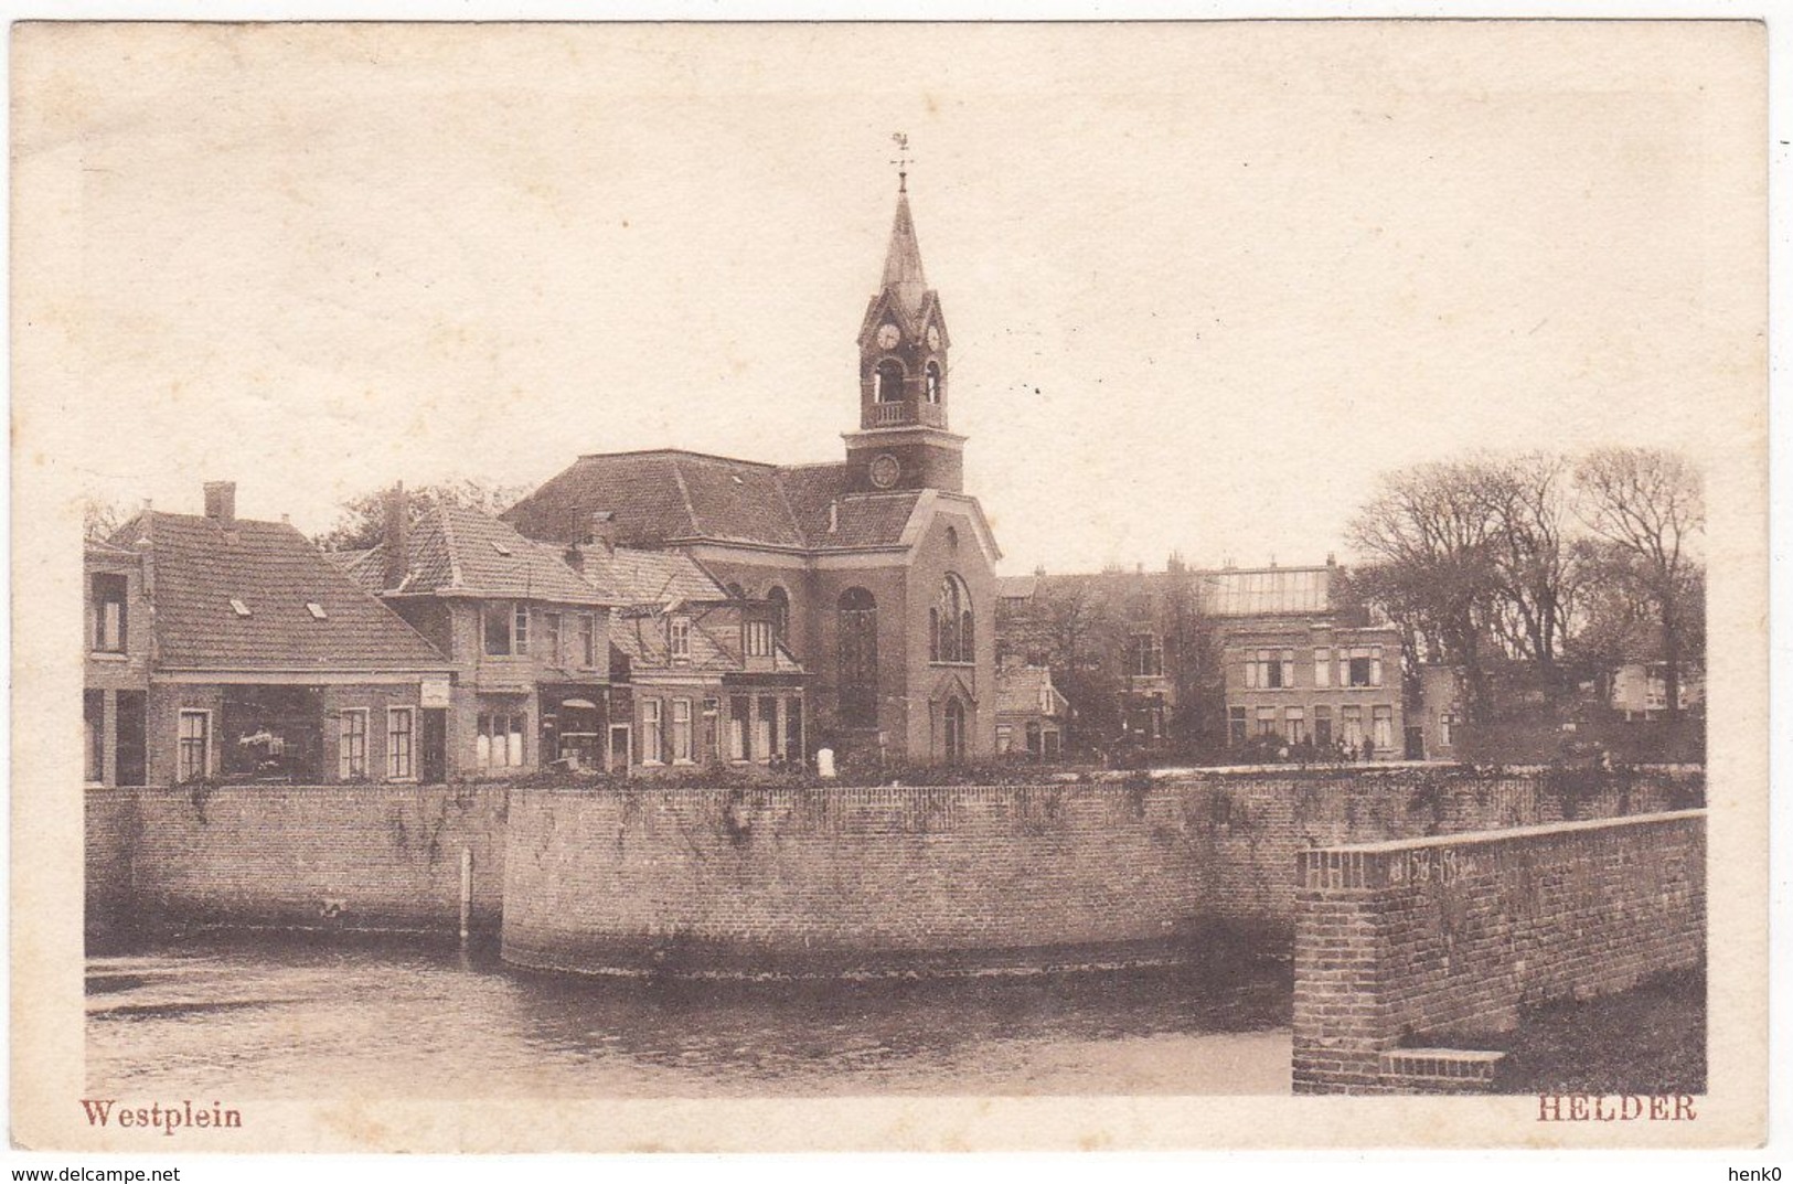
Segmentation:
[(403, 596), (479, 596), (613, 605), (622, 599), (604, 579), (581, 578), (554, 544), (524, 538), (507, 522), (466, 506), (436, 506), (411, 529), (409, 565), (398, 588), (385, 588), (385, 545), (337, 556), (369, 592)]

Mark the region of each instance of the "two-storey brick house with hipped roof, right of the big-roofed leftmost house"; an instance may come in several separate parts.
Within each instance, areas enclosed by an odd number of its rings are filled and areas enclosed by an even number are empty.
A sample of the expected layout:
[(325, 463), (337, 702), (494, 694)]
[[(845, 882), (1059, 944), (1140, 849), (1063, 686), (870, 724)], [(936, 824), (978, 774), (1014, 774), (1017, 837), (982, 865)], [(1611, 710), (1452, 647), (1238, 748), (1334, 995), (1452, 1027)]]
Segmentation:
[(452, 664), (439, 721), (457, 775), (610, 762), (610, 608), (620, 597), (561, 547), (464, 506), (434, 506), (411, 526), (394, 490), (380, 545), (341, 562)]

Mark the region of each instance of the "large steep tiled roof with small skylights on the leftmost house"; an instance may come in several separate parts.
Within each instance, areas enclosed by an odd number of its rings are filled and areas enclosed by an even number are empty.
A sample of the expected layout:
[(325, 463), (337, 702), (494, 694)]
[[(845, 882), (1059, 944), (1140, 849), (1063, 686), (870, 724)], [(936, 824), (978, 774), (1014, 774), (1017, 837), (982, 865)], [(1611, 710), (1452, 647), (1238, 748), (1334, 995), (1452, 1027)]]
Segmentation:
[[(178, 669), (437, 669), (443, 657), (283, 522), (143, 511), (115, 545), (151, 540), (156, 662)], [(247, 610), (237, 612), (233, 601)], [(317, 605), (314, 615), (307, 605)]]

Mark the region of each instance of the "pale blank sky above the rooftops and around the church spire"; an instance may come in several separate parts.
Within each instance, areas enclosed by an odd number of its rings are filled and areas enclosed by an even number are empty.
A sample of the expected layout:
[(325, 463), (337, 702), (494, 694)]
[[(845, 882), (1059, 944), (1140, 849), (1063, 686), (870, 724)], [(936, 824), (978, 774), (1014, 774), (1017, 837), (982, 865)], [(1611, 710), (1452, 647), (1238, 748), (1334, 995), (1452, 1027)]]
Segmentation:
[[(843, 454), (895, 205), (1002, 569), (1348, 560), (1382, 472), (1764, 443), (1748, 25), (23, 27), (16, 472), (307, 531)], [(1752, 452), (1755, 450), (1755, 452)], [(1737, 486), (1743, 488), (1743, 486)]]

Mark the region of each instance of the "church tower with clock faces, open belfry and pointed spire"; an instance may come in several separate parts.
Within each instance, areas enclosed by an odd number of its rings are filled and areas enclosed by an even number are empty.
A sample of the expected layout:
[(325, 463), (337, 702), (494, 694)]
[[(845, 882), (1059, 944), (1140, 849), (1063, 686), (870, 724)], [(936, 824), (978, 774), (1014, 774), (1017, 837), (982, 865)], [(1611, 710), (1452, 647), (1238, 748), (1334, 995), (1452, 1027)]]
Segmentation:
[(963, 492), (965, 436), (947, 431), (950, 346), (940, 292), (922, 273), (905, 169), (884, 276), (859, 326), (859, 431), (846, 432), (853, 490)]

